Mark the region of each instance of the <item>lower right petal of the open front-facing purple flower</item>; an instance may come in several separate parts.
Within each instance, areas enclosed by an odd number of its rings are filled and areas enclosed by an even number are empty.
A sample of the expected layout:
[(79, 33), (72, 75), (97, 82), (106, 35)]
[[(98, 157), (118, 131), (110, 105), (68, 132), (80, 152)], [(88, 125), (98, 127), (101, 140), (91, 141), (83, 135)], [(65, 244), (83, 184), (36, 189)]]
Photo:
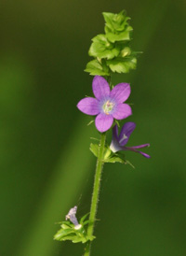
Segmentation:
[(132, 115), (132, 109), (127, 104), (120, 103), (115, 107), (112, 115), (113, 118), (116, 120), (123, 120), (126, 119), (128, 116)]

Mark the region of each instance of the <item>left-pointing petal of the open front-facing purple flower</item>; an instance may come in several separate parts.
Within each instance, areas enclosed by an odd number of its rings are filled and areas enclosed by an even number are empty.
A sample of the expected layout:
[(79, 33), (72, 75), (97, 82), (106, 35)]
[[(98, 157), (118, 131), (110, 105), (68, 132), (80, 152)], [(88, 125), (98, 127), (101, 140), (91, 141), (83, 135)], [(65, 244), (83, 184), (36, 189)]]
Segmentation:
[(94, 116), (100, 113), (99, 101), (92, 97), (86, 97), (77, 104), (77, 108), (86, 115)]

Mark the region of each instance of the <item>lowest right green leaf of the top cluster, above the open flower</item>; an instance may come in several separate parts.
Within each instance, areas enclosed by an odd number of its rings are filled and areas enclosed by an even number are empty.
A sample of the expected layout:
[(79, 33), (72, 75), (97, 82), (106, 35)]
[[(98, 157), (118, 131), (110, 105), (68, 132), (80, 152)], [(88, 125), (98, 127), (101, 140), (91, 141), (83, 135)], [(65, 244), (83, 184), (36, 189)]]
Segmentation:
[(135, 69), (137, 64), (136, 57), (115, 58), (107, 61), (107, 64), (113, 72), (128, 73), (130, 69)]

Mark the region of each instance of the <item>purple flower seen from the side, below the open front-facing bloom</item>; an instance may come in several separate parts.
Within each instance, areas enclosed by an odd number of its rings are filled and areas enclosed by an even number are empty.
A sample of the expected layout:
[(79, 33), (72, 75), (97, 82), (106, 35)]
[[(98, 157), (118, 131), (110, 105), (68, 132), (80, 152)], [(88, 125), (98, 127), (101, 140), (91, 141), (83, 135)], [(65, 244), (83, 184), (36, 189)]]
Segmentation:
[(137, 149), (149, 147), (150, 144), (143, 144), (143, 145), (134, 146), (134, 147), (126, 147), (126, 143), (129, 139), (129, 136), (132, 134), (135, 128), (136, 128), (136, 124), (132, 121), (128, 121), (122, 127), (120, 135), (118, 135), (118, 127), (117, 125), (115, 125), (113, 127), (113, 139), (110, 145), (110, 149), (112, 149), (113, 152), (117, 152), (120, 150), (131, 150), (131, 151), (140, 153), (144, 157), (150, 158), (151, 157), (150, 155), (137, 150)]

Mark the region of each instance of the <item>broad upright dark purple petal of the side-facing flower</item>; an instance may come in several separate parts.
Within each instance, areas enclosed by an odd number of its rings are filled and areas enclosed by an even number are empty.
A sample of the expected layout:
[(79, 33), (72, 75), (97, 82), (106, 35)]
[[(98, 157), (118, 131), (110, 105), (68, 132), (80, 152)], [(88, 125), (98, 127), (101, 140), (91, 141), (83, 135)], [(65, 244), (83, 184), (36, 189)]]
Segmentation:
[(132, 132), (134, 131), (134, 129), (136, 128), (136, 123), (132, 122), (132, 121), (128, 121), (124, 124), (124, 126), (122, 127), (121, 133), (119, 135), (119, 144), (121, 146), (125, 146), (129, 136), (132, 134)]

